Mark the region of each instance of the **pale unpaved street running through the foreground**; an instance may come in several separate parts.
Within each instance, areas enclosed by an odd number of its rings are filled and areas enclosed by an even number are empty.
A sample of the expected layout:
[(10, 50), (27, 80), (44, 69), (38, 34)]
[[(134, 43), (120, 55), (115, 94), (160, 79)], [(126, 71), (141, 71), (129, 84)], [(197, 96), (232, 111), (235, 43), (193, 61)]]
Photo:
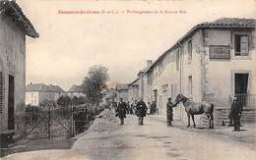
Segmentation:
[[(115, 119), (115, 118), (114, 118)], [(97, 119), (98, 120), (98, 119)], [(144, 126), (137, 125), (137, 117), (128, 115), (124, 126), (116, 121), (99, 118), (93, 129), (82, 133), (72, 149), (44, 150), (17, 153), (10, 159), (177, 159), (177, 160), (255, 160), (256, 151), (235, 143), (232, 140), (218, 138), (208, 133), (196, 133), (189, 129), (167, 128), (164, 123), (147, 116)], [(111, 124), (112, 123), (112, 124)]]

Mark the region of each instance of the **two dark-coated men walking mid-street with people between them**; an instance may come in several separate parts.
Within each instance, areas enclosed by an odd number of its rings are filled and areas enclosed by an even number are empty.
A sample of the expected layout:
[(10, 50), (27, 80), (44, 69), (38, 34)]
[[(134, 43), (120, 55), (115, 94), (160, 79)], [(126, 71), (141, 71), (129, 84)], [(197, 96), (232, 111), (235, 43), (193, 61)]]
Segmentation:
[(115, 109), (115, 116), (119, 117), (120, 125), (123, 125), (124, 118), (126, 118), (126, 113), (135, 113), (138, 116), (138, 125), (143, 125), (143, 119), (147, 115), (147, 110), (147, 105), (142, 99), (130, 106), (129, 103), (123, 102), (123, 99), (120, 98), (117, 108)]

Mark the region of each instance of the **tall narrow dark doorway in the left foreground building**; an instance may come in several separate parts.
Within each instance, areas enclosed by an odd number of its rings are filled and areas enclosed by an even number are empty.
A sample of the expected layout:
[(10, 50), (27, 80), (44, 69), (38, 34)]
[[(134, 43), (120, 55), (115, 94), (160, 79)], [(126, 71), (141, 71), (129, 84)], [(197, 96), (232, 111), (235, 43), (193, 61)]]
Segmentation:
[(8, 130), (14, 130), (14, 77), (9, 75), (8, 87)]

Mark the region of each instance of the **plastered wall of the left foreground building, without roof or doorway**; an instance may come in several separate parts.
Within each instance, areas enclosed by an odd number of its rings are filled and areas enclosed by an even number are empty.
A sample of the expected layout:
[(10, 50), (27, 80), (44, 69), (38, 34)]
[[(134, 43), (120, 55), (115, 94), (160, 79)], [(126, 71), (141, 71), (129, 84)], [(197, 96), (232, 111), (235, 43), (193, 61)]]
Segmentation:
[[(26, 80), (26, 36), (13, 21), (0, 16), (0, 70), (4, 76), (4, 106), (0, 113), (0, 132), (8, 129), (8, 89), (9, 75), (15, 80), (15, 121), (25, 113), (25, 80)], [(22, 122), (22, 121), (20, 121)], [(22, 133), (24, 125), (17, 126), (16, 131)]]

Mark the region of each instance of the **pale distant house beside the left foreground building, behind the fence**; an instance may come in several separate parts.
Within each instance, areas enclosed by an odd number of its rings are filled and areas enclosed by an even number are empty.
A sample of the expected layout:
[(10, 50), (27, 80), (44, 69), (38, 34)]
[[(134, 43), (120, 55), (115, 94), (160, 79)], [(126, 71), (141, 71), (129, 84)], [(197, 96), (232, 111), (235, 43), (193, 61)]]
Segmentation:
[(56, 101), (65, 91), (58, 85), (30, 83), (26, 85), (26, 105), (38, 106), (44, 100)]

